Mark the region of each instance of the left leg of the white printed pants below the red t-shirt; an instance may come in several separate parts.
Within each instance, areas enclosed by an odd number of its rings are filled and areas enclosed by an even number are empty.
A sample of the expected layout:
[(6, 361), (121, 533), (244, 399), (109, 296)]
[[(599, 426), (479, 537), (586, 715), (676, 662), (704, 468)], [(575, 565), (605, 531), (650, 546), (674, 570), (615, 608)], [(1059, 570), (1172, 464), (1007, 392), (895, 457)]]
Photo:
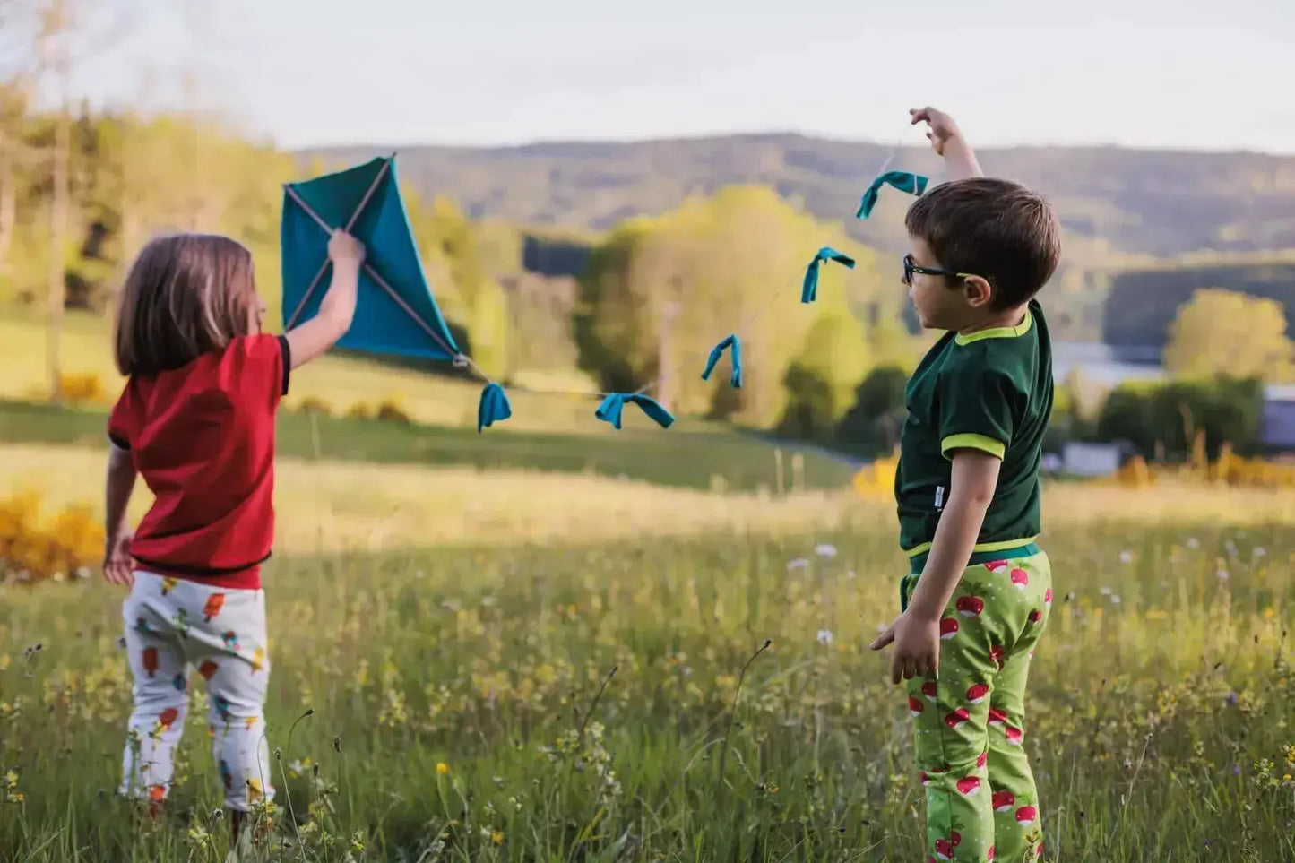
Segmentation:
[(122, 614), (135, 678), (135, 710), (122, 757), (120, 793), (159, 803), (171, 788), (175, 746), (188, 713), (186, 657), (168, 628), (167, 603), (137, 581)]

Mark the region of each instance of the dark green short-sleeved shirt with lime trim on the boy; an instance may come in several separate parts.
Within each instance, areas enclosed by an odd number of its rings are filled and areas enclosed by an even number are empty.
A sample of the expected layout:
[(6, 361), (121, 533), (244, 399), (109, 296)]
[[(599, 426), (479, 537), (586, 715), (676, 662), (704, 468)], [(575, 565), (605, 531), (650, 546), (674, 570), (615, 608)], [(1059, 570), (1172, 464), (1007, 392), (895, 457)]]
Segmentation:
[(900, 546), (921, 571), (949, 499), (952, 452), (1002, 459), (970, 562), (1032, 553), (1040, 531), (1039, 468), (1052, 415), (1052, 342), (1031, 301), (1017, 327), (945, 333), (905, 387), (908, 419), (895, 474)]

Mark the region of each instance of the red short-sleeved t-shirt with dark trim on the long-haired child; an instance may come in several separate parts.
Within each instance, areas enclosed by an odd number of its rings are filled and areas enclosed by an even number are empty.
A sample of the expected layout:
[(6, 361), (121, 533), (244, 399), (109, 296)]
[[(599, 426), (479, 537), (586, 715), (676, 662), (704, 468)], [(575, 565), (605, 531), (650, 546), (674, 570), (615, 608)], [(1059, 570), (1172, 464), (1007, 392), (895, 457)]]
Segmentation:
[(275, 409), (291, 368), (282, 336), (131, 377), (107, 420), (157, 498), (131, 542), (141, 569), (260, 587), (275, 539)]

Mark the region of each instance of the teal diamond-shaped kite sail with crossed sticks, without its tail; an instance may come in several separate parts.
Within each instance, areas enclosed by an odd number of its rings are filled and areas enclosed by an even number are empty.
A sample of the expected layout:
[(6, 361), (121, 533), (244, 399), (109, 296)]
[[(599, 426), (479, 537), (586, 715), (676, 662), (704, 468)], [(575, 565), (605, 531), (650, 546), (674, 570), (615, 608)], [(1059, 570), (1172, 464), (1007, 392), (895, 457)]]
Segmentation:
[(328, 290), (329, 231), (320, 220), (346, 229), (365, 247), (355, 319), (338, 339), (339, 347), (433, 360), (458, 356), (422, 270), (394, 155), (285, 187), (281, 246), (286, 329), (319, 314)]

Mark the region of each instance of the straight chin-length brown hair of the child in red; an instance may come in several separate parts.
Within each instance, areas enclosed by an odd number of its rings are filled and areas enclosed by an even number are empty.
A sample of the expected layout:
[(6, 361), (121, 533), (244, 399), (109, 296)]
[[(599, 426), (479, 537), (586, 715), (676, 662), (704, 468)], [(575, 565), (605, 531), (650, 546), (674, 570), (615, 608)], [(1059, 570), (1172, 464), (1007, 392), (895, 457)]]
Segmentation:
[(155, 237), (135, 258), (117, 311), (117, 368), (157, 374), (247, 334), (251, 253), (207, 233)]

